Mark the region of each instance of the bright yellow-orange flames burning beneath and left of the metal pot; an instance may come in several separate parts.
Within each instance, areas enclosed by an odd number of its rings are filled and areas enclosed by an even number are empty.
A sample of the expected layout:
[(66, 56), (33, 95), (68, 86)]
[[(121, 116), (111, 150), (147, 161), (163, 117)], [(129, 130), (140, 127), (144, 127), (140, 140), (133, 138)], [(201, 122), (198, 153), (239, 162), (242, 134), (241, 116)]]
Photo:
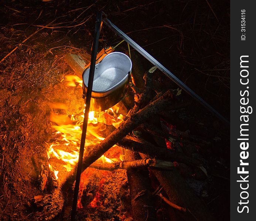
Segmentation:
[[(68, 75), (66, 76), (66, 81), (68, 85), (71, 87), (76, 86), (75, 83), (78, 83), (82, 87), (82, 79), (76, 75)], [(65, 104), (54, 103), (51, 104), (52, 108), (55, 109), (66, 109)], [(85, 110), (84, 110), (85, 111)], [(116, 115), (116, 119), (113, 117), (112, 125), (118, 127), (119, 124), (123, 121), (123, 115), (117, 114), (119, 111), (119, 107), (117, 105), (113, 106), (112, 108), (106, 110), (105, 112), (111, 115)], [(104, 113), (104, 112), (103, 112)], [(96, 112), (91, 111), (89, 112), (88, 116), (88, 125), (87, 125), (87, 132), (86, 132), (86, 143), (85, 143), (85, 151), (87, 147), (93, 147), (100, 143), (101, 140), (105, 138), (100, 135), (100, 131), (105, 130), (105, 124), (98, 124), (98, 119), (95, 117)], [(99, 116), (99, 115), (98, 115)], [(55, 157), (61, 161), (65, 165), (67, 171), (71, 171), (72, 165), (75, 165), (78, 162), (79, 158), (79, 146), (81, 141), (81, 134), (82, 134), (82, 124), (83, 124), (83, 115), (81, 116), (74, 116), (68, 117), (67, 115), (56, 114), (54, 112), (50, 115), (50, 120), (57, 125), (52, 126), (56, 130), (56, 134), (61, 134), (61, 140), (65, 141), (64, 144), (59, 144), (55, 142), (49, 146), (47, 151), (48, 159), (51, 157)], [(61, 145), (75, 145), (76, 150), (71, 150), (70, 152), (60, 150), (55, 147), (61, 148)], [(72, 148), (70, 148), (72, 149)], [(114, 161), (119, 161), (119, 159), (109, 159), (102, 155), (98, 160), (103, 163), (113, 163)], [(49, 168), (54, 171), (56, 179), (58, 179), (58, 171), (55, 171), (52, 166), (49, 164)]]

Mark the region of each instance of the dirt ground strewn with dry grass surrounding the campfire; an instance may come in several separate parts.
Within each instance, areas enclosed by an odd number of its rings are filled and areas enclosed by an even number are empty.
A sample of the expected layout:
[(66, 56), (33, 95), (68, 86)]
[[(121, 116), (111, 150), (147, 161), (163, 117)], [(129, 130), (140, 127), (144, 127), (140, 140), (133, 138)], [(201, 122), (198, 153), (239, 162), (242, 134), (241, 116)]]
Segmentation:
[[(228, 1), (14, 0), (0, 4), (0, 58), (18, 46), (0, 63), (0, 220), (40, 219), (27, 205), (42, 194), (38, 176), (47, 160), (45, 142), (54, 132), (50, 113), (55, 110), (50, 103), (65, 103), (68, 109), (62, 114), (67, 116), (83, 109), (81, 87), (66, 87), (65, 76), (74, 71), (64, 57), (74, 53), (89, 62), (98, 10), (229, 118)], [(103, 27), (100, 49), (120, 41)], [(127, 45), (122, 43), (119, 50), (127, 52)], [(144, 60), (143, 66), (148, 70), (152, 65)], [(177, 89), (158, 74), (159, 87)], [(185, 92), (181, 96), (183, 101), (191, 100)], [(218, 220), (229, 220), (229, 128), (195, 101), (184, 112), (174, 113), (171, 123), (211, 141), (211, 149), (203, 151), (209, 188), (201, 197)], [(118, 173), (112, 176), (119, 177)], [(127, 197), (127, 180), (119, 182), (123, 183), (123, 189), (117, 190), (119, 197)], [(110, 198), (112, 204), (115, 198)], [(114, 210), (120, 214), (129, 208)], [(95, 214), (87, 211), (88, 220), (98, 220)], [(130, 211), (124, 217), (101, 217), (124, 220)]]

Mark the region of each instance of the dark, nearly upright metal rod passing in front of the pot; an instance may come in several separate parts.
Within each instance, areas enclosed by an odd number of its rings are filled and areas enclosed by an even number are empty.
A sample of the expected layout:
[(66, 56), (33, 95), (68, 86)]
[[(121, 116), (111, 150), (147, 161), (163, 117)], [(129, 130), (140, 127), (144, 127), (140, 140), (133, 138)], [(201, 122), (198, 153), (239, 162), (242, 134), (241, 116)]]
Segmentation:
[(84, 151), (84, 147), (85, 147), (88, 115), (89, 115), (90, 101), (91, 101), (91, 96), (92, 96), (92, 84), (93, 84), (93, 77), (94, 77), (94, 71), (95, 71), (97, 50), (98, 50), (98, 45), (99, 45), (99, 35), (100, 35), (101, 23), (102, 23), (102, 12), (98, 12), (96, 15), (96, 24), (95, 24), (95, 31), (94, 31), (94, 38), (93, 38), (93, 45), (92, 45), (91, 66), (90, 66), (89, 79), (88, 79), (88, 88), (87, 88), (87, 93), (86, 93), (85, 115), (83, 118), (81, 143), (80, 143), (79, 158), (78, 158), (77, 171), (76, 171), (74, 198), (73, 198), (72, 211), (71, 211), (71, 217), (70, 217), (71, 221), (75, 220), (75, 215), (76, 215), (76, 205), (77, 205), (77, 200), (78, 200), (79, 184), (80, 184), (82, 164), (83, 164), (83, 151)]

